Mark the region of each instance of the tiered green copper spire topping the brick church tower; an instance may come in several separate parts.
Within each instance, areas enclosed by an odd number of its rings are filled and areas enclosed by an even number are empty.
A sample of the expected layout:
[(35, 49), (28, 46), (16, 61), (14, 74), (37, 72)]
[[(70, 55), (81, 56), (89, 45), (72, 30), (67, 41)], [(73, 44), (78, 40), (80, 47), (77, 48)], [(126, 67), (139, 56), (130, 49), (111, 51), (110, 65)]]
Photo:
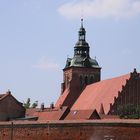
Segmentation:
[(83, 19), (81, 19), (81, 27), (78, 31), (78, 41), (74, 47), (74, 57), (68, 58), (66, 67), (95, 67), (99, 65), (95, 59), (90, 58), (90, 47), (86, 42), (86, 30), (83, 26)]

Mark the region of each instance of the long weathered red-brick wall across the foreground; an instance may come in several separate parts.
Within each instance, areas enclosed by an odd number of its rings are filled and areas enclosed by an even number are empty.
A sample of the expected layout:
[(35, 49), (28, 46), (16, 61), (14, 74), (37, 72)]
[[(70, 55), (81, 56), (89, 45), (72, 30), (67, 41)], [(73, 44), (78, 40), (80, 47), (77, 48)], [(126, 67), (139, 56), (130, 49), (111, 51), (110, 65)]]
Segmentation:
[(0, 140), (140, 140), (140, 122), (9, 122)]

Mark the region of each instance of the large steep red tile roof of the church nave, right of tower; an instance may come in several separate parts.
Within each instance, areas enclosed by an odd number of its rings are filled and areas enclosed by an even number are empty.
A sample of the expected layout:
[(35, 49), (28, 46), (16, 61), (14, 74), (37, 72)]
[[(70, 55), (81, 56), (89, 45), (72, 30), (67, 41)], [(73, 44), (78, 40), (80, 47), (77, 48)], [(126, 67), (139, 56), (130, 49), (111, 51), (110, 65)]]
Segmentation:
[(114, 97), (118, 97), (118, 92), (122, 90), (122, 86), (129, 78), (130, 74), (127, 74), (88, 85), (72, 106), (72, 110), (96, 109), (99, 113), (103, 104), (104, 112), (107, 114), (110, 103), (114, 103)]

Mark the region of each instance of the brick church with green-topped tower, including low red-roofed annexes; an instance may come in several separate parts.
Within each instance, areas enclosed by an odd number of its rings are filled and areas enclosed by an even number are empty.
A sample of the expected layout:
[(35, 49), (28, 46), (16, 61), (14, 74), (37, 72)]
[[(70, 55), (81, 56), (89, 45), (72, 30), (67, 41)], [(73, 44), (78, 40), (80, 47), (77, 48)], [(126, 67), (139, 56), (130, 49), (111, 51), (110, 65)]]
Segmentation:
[(134, 69), (126, 75), (101, 80), (101, 67), (90, 56), (81, 19), (74, 56), (66, 60), (56, 104), (28, 110), (26, 115), (39, 120), (92, 120), (120, 118), (126, 111), (129, 115), (140, 113), (140, 73)]

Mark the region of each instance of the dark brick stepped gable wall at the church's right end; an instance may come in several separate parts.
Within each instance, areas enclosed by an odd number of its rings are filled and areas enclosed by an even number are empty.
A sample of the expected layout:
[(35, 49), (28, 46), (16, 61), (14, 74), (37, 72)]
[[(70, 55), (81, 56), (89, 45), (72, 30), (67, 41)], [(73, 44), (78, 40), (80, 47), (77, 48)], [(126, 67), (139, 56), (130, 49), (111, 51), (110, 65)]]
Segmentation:
[(140, 74), (136, 71), (131, 73), (126, 85), (122, 86), (122, 91), (118, 92), (118, 97), (114, 97), (114, 104), (110, 106), (109, 114), (118, 115), (119, 107), (126, 105), (140, 107)]

